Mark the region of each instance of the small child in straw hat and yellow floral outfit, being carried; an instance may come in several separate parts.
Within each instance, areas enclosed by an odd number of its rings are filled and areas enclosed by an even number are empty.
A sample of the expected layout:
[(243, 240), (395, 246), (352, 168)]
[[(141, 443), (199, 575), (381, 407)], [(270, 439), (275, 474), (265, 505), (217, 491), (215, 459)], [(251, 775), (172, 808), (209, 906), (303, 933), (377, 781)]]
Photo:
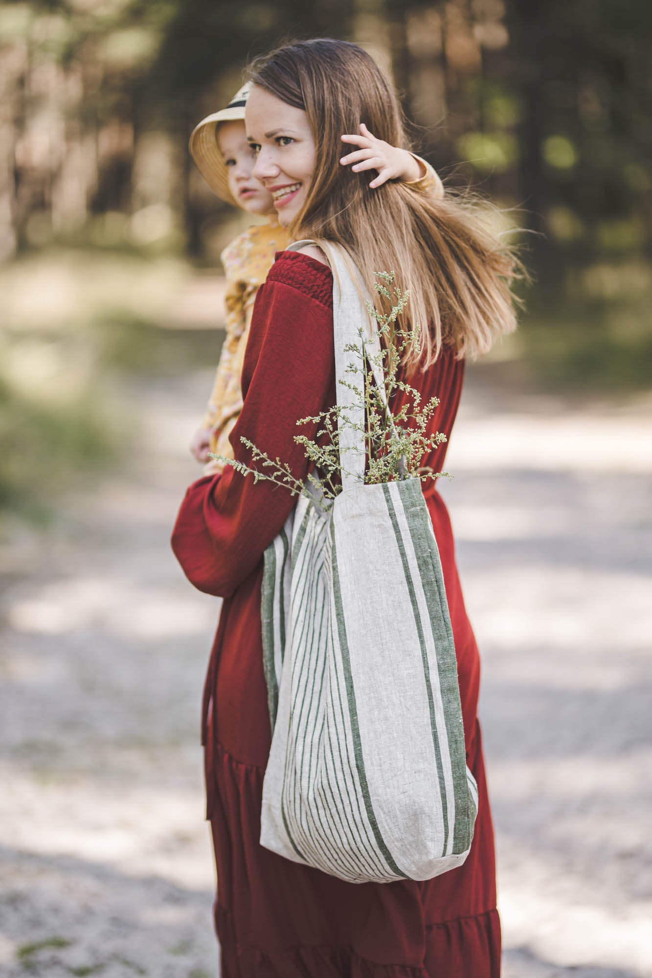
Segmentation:
[[(192, 455), (205, 464), (207, 474), (220, 470), (209, 453), (233, 458), (229, 434), (242, 408), (240, 378), (256, 292), (267, 277), (275, 252), (283, 251), (291, 241), (278, 223), (271, 194), (252, 176), (256, 160), (245, 131), (249, 92), (250, 86), (245, 85), (226, 109), (208, 115), (190, 137), (190, 152), (217, 197), (267, 218), (264, 224), (253, 225), (239, 235), (221, 254), (226, 273), (226, 337), (206, 416), (190, 444)], [(364, 125), (359, 135), (343, 135), (342, 140), (358, 147), (340, 160), (343, 165), (352, 164), (358, 171), (378, 171), (370, 188), (391, 179), (404, 180), (435, 198), (442, 197), (442, 181), (421, 157), (376, 139)]]

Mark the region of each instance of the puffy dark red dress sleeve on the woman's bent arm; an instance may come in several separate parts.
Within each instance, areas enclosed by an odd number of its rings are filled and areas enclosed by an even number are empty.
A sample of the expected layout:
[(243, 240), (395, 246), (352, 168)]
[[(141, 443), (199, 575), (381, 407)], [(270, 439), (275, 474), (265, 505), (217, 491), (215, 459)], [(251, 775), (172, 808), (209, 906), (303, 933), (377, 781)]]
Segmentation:
[[(333, 279), (330, 268), (296, 251), (280, 252), (258, 290), (243, 368), (244, 405), (230, 441), (252, 464), (241, 436), (304, 478), (297, 426), (335, 403)], [(172, 550), (189, 581), (227, 598), (256, 568), (296, 503), (288, 489), (232, 467), (190, 486), (172, 532)]]

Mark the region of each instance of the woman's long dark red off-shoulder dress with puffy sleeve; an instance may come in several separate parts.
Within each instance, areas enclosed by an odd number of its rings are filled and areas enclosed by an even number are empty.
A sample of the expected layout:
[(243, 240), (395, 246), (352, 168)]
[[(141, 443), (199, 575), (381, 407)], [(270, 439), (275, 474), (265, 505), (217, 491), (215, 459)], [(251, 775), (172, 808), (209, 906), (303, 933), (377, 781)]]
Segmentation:
[[(450, 434), (464, 365), (444, 349), (413, 379), (441, 405)], [(232, 432), (305, 472), (296, 421), (335, 402), (332, 276), (307, 255), (277, 256), (257, 299)], [(312, 434), (313, 432), (307, 432)], [(445, 446), (424, 460), (442, 469)], [(426, 882), (346, 883), (291, 863), (259, 842), (262, 778), (271, 740), (262, 670), (262, 554), (293, 506), (289, 492), (228, 468), (188, 489), (172, 547), (189, 580), (224, 598), (204, 697), (208, 818), (217, 865), (215, 926), (223, 978), (498, 978), (493, 831), (476, 716), (480, 663), (455, 566), (450, 522), (435, 485), (426, 497), (442, 556), (457, 655), (467, 763), (479, 813), (462, 867)], [(391, 596), (379, 596), (389, 600)]]

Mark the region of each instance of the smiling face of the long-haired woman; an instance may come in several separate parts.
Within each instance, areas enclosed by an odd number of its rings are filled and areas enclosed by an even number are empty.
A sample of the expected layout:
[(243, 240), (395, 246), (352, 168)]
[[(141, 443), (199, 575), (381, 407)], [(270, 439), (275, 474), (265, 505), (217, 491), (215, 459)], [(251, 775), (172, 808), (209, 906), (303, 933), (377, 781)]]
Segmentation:
[(279, 222), (287, 227), (302, 209), (314, 173), (316, 153), (307, 115), (253, 85), (245, 123), (256, 154), (253, 175), (271, 194)]

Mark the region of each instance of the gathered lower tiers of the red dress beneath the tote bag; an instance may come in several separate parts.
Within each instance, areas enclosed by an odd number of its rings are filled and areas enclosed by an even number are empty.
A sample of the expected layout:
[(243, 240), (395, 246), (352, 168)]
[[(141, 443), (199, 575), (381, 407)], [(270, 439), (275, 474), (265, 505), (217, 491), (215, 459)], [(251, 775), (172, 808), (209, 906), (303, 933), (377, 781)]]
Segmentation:
[(499, 978), (495, 909), (429, 924), (428, 887), (452, 879), (356, 886), (263, 849), (264, 770), (208, 754), (222, 978)]

